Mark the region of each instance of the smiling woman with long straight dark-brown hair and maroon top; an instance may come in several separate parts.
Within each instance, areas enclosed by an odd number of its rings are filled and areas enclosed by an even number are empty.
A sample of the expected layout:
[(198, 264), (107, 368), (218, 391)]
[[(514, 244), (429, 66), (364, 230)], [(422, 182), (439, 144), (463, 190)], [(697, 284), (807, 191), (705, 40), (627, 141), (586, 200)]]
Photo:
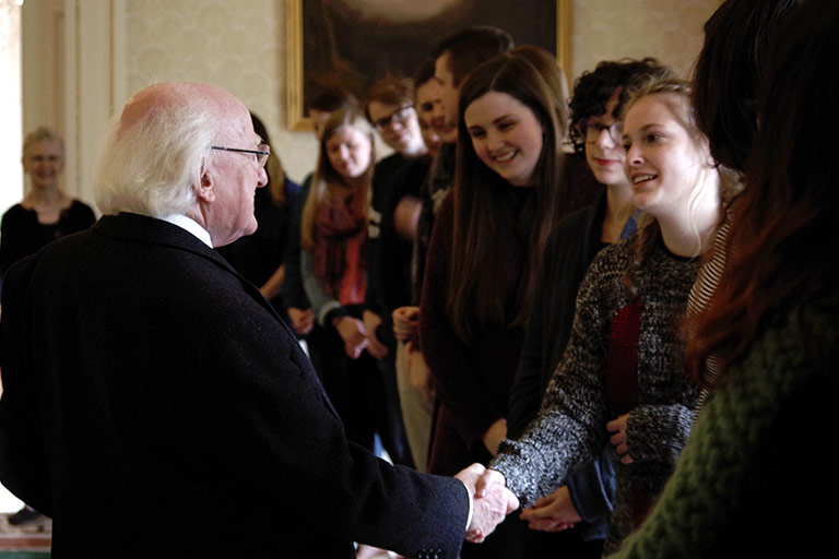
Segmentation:
[(475, 69), (461, 88), (454, 188), (435, 221), (421, 305), (438, 397), (430, 473), (485, 463), (506, 436), (536, 271), (565, 210), (557, 103), (516, 55)]

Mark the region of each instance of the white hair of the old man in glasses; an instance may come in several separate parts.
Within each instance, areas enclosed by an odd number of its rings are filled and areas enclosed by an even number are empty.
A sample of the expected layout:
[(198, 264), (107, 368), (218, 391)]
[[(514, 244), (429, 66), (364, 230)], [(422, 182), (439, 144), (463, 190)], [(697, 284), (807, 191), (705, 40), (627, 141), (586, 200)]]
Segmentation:
[(111, 121), (94, 183), (103, 214), (163, 217), (197, 203), (193, 186), (206, 168), (222, 118), (217, 104), (189, 84), (168, 86), (175, 103), (156, 104), (130, 127)]

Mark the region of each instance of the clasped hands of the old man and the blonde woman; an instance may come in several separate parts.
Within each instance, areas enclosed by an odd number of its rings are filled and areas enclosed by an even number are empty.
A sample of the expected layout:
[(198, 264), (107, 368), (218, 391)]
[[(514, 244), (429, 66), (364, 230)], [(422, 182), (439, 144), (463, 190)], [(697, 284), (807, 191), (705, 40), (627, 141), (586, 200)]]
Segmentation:
[(497, 472), (472, 464), (454, 477), (463, 481), (472, 497), (472, 520), (466, 527), (466, 542), (480, 544), (519, 508), (519, 500), (505, 487), (504, 476)]

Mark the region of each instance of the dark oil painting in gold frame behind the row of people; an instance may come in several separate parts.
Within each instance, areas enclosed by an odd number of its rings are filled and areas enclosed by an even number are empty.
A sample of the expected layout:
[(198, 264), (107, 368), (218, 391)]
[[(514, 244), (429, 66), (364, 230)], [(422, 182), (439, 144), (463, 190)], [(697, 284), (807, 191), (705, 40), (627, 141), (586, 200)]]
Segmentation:
[(571, 0), (285, 0), (288, 128), (311, 130), (309, 103), (343, 87), (359, 99), (387, 74), (413, 75), (434, 46), (468, 25), (494, 25), (516, 45), (570, 68)]

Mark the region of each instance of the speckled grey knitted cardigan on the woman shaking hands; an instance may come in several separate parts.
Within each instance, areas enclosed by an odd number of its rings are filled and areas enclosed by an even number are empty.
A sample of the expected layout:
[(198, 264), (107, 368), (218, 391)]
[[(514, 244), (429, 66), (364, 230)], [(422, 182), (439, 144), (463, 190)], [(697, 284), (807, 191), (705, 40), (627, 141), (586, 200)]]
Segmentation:
[[(577, 297), (571, 337), (542, 408), (518, 440), (505, 440), (489, 467), (504, 474), (522, 506), (531, 506), (598, 457), (617, 417), (606, 399), (604, 360), (610, 322), (635, 297), (623, 283), (635, 258), (631, 237), (603, 249)], [(672, 473), (693, 420), (696, 390), (684, 372), (678, 321), (699, 263), (667, 253), (661, 242), (633, 277), (641, 297), (638, 405), (629, 413), (631, 465), (616, 463), (617, 492), (605, 551), (635, 527), (631, 496), (654, 498)]]

